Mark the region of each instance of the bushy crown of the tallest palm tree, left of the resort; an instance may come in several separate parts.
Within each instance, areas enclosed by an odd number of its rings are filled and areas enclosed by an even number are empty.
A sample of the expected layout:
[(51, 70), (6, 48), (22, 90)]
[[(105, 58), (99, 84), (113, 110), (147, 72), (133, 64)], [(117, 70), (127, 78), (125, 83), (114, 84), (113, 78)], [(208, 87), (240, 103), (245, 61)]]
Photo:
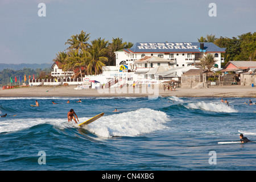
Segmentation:
[(69, 44), (68, 49), (86, 49), (88, 48), (88, 40), (90, 39), (90, 34), (81, 31), (79, 35), (72, 35), (70, 39), (67, 40), (65, 44)]

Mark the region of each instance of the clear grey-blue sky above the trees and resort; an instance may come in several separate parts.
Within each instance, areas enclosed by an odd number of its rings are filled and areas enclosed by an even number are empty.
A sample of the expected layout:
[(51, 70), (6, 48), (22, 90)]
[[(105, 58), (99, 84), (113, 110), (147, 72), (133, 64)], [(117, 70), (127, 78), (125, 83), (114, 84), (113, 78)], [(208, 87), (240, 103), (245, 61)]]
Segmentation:
[[(39, 3), (46, 17), (38, 16)], [(90, 40), (197, 42), (254, 32), (255, 19), (255, 0), (0, 0), (0, 63), (52, 63), (81, 30)]]

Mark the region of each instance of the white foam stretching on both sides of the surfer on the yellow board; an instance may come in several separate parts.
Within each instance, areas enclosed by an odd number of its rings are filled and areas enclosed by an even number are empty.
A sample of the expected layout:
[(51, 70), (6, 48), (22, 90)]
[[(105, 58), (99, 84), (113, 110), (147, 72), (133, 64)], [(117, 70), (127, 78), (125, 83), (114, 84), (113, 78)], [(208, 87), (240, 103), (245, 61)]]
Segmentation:
[[(79, 117), (80, 123), (88, 120), (90, 117)], [(128, 111), (126, 113), (114, 113), (113, 115), (104, 115), (97, 121), (84, 126), (101, 137), (110, 138), (113, 136), (129, 136), (135, 137), (144, 133), (151, 133), (152, 131), (166, 128), (164, 123), (169, 118), (167, 114), (162, 111), (142, 108), (135, 111)], [(25, 130), (32, 126), (49, 123), (59, 130), (64, 130), (69, 127), (79, 126), (75, 122), (68, 122), (67, 118), (49, 119), (49, 118), (8, 118), (0, 122), (0, 133), (13, 132)]]

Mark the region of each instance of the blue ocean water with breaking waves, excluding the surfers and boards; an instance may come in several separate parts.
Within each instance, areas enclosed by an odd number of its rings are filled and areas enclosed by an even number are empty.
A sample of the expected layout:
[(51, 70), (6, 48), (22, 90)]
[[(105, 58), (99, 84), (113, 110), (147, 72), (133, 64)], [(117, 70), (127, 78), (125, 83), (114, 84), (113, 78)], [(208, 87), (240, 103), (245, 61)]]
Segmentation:
[[(229, 106), (220, 98), (79, 99), (1, 98), (0, 170), (256, 169), (256, 142), (217, 143), (239, 141), (238, 130), (256, 133), (250, 98), (228, 98)], [(30, 106), (35, 100), (40, 107)], [(81, 128), (67, 121), (70, 109), (80, 123), (105, 115)]]

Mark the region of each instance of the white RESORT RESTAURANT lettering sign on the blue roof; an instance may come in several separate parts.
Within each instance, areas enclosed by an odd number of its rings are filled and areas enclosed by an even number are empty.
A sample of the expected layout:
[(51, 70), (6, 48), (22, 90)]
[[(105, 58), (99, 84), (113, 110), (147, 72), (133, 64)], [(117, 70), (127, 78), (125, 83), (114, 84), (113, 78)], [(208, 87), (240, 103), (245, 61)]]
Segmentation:
[(156, 49), (156, 50), (164, 50), (164, 49), (172, 49), (173, 51), (176, 49), (182, 50), (185, 49), (187, 51), (191, 51), (191, 49), (197, 49), (199, 45), (197, 43), (137, 43), (137, 51), (142, 51), (142, 49)]

